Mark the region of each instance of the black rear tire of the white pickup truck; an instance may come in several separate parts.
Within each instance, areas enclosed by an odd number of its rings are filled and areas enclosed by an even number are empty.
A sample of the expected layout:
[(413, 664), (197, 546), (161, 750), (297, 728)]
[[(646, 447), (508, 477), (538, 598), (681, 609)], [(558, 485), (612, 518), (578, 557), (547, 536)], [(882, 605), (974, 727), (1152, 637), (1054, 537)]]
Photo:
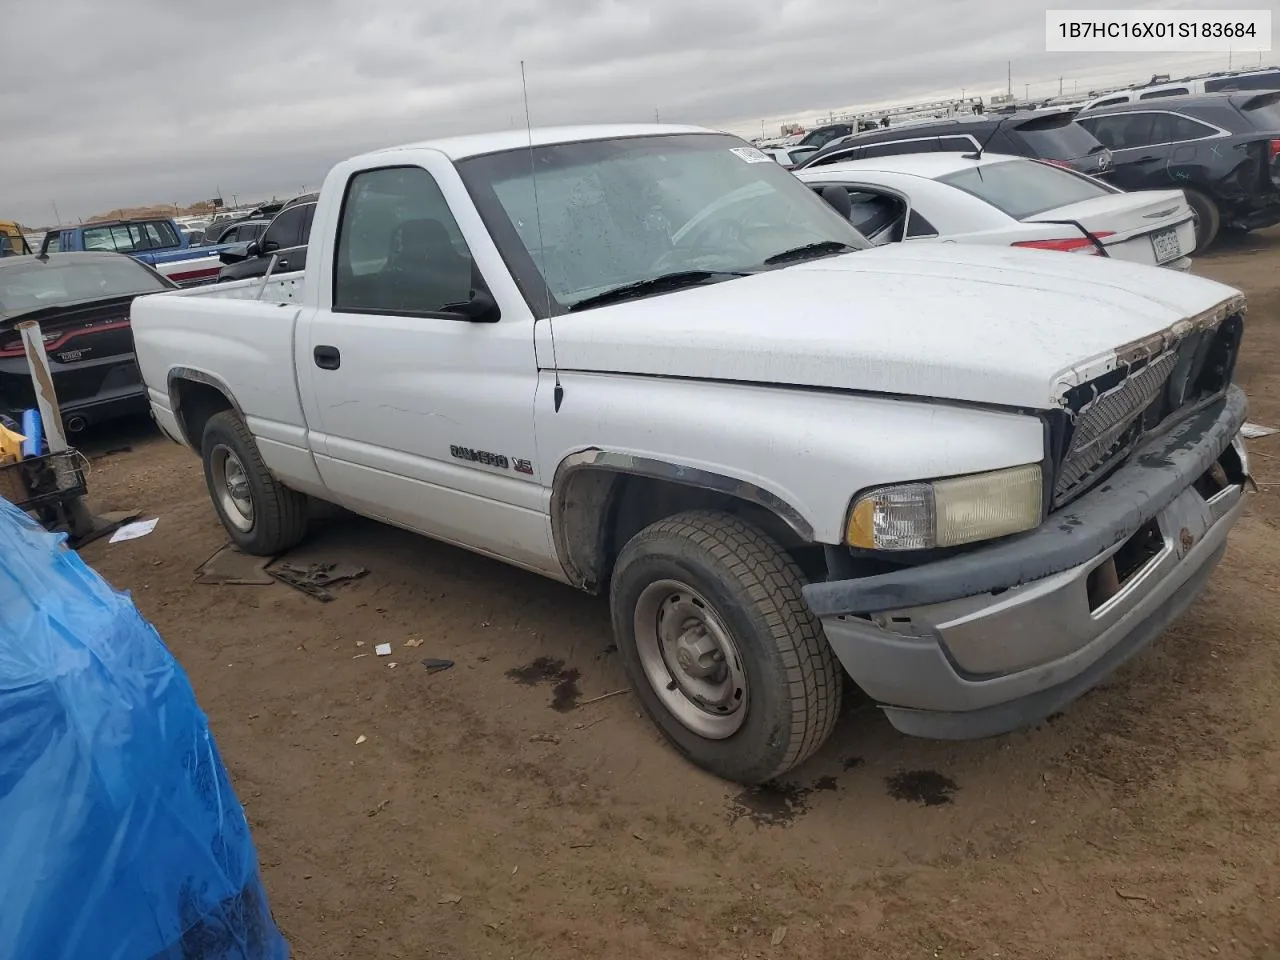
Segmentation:
[[(209, 498), (237, 547), (256, 557), (274, 557), (302, 541), (307, 532), (307, 498), (271, 476), (243, 420), (229, 410), (211, 416), (200, 449)], [(241, 467), (241, 489), (247, 488), (251, 515), (233, 513), (236, 506), (221, 495), (225, 463), (230, 458)]]

